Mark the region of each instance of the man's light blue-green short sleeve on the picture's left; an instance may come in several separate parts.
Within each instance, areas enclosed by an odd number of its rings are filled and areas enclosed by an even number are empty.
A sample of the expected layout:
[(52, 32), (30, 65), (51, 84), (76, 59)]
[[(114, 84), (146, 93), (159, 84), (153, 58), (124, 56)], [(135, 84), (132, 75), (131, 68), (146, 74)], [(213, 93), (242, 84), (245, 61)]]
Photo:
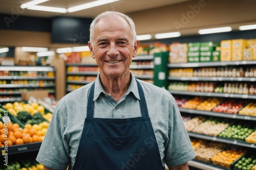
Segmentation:
[(39, 163), (58, 170), (66, 170), (69, 164), (69, 145), (62, 137), (67, 126), (67, 116), (63, 113), (58, 103), (36, 157)]

